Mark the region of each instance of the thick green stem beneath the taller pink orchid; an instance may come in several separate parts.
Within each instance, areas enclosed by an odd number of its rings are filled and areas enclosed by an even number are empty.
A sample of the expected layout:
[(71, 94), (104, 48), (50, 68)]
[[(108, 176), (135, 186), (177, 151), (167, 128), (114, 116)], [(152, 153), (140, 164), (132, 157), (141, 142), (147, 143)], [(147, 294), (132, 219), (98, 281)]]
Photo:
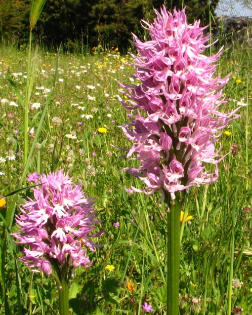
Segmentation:
[(167, 314), (177, 315), (179, 305), (180, 209), (179, 194), (170, 200), (167, 215)]

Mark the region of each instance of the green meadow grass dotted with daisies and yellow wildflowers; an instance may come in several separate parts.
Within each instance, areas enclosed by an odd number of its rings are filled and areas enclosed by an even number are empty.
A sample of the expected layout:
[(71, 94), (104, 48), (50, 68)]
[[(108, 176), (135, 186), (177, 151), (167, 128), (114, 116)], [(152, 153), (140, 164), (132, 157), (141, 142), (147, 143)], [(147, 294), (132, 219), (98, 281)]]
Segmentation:
[[(218, 66), (222, 78), (231, 74), (223, 111), (244, 106), (241, 118), (219, 139), (220, 155), (232, 152), (219, 165), (218, 181), (192, 189), (185, 203), (184, 211), (193, 218), (183, 223), (181, 236), (181, 315), (230, 314), (236, 306), (244, 309), (244, 315), (251, 314), (251, 55), (246, 45), (232, 47), (222, 54)], [(29, 101), (28, 152), (52, 90), (57, 58), (38, 50)], [(75, 271), (69, 296), (76, 314), (143, 314), (145, 302), (153, 306), (153, 314), (165, 312), (166, 209), (159, 194), (147, 197), (125, 190), (142, 186), (124, 171), (135, 161), (120, 150), (130, 144), (118, 128), (128, 118), (116, 95), (118, 81), (137, 83), (130, 62), (129, 55), (115, 49), (97, 49), (92, 56), (59, 56), (55, 88), (28, 170), (28, 174), (47, 174), (63, 168), (82, 183), (87, 196), (97, 198), (97, 215), (105, 229), (98, 242), (103, 247), (88, 253), (92, 267)], [(24, 170), (24, 109), (6, 78), (15, 82), (22, 97), (26, 71), (26, 51), (0, 48), (1, 197), (20, 187)], [(27, 181), (21, 184), (31, 186)], [(32, 191), (15, 196), (22, 203)], [(15, 196), (7, 197), (1, 209), (2, 230)], [(16, 231), (15, 225), (10, 228)], [(15, 260), (21, 249), (13, 245), (11, 236), (4, 243), (2, 233), (0, 281), (5, 301), (1, 295), (0, 314), (58, 314), (53, 278), (33, 273)], [(106, 269), (108, 265), (115, 268)]]

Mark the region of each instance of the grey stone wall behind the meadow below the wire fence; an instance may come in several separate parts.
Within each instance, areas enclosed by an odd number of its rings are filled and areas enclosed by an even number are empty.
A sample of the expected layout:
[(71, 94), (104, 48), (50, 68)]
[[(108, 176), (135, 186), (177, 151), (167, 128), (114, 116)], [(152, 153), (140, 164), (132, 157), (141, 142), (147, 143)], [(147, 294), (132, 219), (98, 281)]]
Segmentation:
[(212, 35), (214, 39), (219, 39), (219, 44), (230, 46), (245, 41), (252, 47), (252, 18), (222, 16), (215, 22)]

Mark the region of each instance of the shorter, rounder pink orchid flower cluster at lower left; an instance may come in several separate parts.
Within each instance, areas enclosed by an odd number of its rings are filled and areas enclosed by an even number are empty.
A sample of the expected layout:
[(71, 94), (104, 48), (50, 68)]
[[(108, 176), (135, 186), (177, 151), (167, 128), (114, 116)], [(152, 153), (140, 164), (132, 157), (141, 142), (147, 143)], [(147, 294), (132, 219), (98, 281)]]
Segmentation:
[(24, 248), (21, 260), (27, 266), (45, 274), (52, 273), (52, 266), (59, 272), (63, 267), (90, 267), (86, 248), (95, 251), (90, 235), (95, 229), (93, 198), (85, 197), (81, 184), (75, 185), (63, 170), (42, 174), (40, 187), (33, 188), (34, 199), (25, 200), (16, 215), (19, 232), (13, 233), (17, 243)]

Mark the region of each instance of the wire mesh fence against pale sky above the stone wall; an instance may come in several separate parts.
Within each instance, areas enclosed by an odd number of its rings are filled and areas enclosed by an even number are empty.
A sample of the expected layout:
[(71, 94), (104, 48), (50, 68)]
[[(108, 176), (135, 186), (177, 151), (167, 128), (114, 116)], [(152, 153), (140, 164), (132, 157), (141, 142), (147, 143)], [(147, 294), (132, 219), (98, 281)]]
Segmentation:
[(219, 0), (215, 9), (217, 16), (235, 16), (252, 18), (251, 0)]

